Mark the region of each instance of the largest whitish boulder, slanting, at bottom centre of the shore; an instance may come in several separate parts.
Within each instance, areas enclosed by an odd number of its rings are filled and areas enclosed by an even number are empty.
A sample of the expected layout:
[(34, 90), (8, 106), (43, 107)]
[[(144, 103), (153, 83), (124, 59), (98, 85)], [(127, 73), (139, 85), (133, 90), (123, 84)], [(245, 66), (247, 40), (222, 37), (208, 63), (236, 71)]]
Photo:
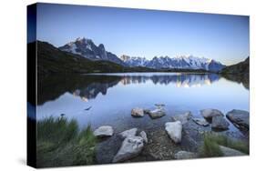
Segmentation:
[(134, 156), (138, 156), (143, 149), (143, 138), (140, 136), (128, 136), (122, 143), (118, 153), (113, 158), (113, 163), (123, 162)]

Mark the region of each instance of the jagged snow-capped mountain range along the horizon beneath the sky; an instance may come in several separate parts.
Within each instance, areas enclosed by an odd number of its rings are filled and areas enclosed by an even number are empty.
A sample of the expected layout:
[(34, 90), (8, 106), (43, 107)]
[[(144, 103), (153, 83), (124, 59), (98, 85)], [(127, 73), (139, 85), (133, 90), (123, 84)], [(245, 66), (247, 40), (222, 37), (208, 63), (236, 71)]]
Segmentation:
[(108, 52), (103, 44), (95, 45), (91, 39), (77, 38), (75, 41), (58, 47), (61, 51), (84, 56), (93, 61), (110, 61), (118, 65), (128, 67), (147, 67), (152, 69), (202, 69), (207, 71), (219, 72), (225, 65), (213, 59), (197, 57), (193, 55), (178, 57), (155, 56), (148, 60), (145, 57), (134, 57), (122, 55), (120, 58)]

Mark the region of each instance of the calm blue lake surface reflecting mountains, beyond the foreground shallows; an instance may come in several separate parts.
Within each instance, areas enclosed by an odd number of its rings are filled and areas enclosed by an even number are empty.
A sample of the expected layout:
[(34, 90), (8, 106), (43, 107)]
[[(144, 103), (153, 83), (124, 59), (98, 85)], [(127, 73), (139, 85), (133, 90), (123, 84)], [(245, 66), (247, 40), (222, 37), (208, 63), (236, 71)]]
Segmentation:
[[(193, 116), (200, 116), (204, 108), (216, 108), (224, 114), (232, 109), (249, 111), (246, 85), (215, 74), (55, 75), (41, 80), (38, 86), (37, 119), (65, 114), (77, 119), (81, 128), (109, 125), (116, 131), (133, 126), (153, 129), (186, 111)], [(165, 104), (167, 116), (155, 120), (130, 116), (134, 107), (153, 109), (155, 104)], [(230, 125), (230, 129), (235, 128)]]

